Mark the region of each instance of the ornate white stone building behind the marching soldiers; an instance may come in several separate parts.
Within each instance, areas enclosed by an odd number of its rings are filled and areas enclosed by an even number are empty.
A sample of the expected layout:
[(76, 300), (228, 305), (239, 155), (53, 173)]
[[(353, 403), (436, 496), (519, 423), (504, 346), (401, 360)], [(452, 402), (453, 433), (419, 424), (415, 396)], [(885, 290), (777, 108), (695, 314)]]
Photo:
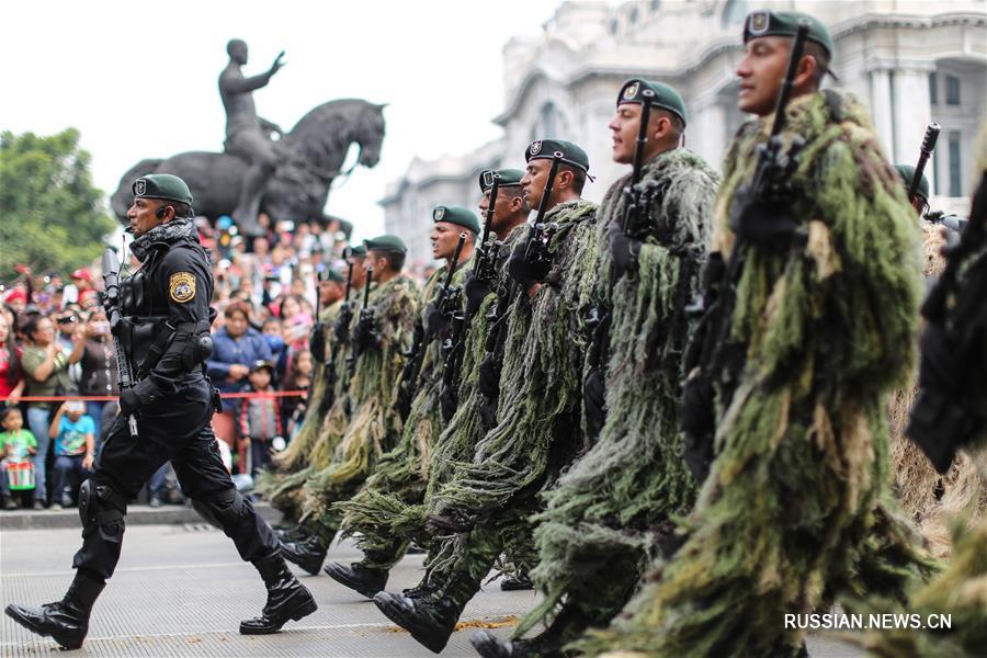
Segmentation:
[(477, 172), (523, 168), (532, 139), (559, 137), (582, 146), (598, 177), (585, 196), (602, 198), (622, 168), (610, 159), (610, 121), (621, 83), (661, 80), (689, 110), (685, 144), (718, 166), (744, 116), (736, 109), (735, 70), (741, 31), (755, 9), (797, 9), (822, 20), (836, 42), (830, 81), (871, 107), (893, 162), (914, 163), (930, 121), (943, 126), (927, 173), (932, 205), (964, 212), (973, 143), (987, 99), (987, 4), (983, 0), (629, 0), (564, 2), (536, 37), (503, 48), (504, 103), (494, 122), (503, 135), (476, 150), (413, 160), (388, 185), (388, 231), (405, 237), (411, 263), (429, 260), (429, 209), (474, 206)]

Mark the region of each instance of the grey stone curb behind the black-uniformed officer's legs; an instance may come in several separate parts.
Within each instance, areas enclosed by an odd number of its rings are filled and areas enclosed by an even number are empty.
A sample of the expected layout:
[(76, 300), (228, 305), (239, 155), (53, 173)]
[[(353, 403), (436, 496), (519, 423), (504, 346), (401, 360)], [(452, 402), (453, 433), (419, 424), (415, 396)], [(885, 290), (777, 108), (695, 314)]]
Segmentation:
[[(253, 509), (268, 523), (281, 521), (281, 512), (266, 502), (251, 503)], [(166, 504), (152, 508), (146, 504), (127, 506), (127, 525), (184, 525), (206, 523), (189, 504)], [(77, 527), (82, 529), (78, 508), (69, 508), (58, 512), (52, 510), (10, 510), (0, 511), (0, 531), (9, 530), (50, 530)]]

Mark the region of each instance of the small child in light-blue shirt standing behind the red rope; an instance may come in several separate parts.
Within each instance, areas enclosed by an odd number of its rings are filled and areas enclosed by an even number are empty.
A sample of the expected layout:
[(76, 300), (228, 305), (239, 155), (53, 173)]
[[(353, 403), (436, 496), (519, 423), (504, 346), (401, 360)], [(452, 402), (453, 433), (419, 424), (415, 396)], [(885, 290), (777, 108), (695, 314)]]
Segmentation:
[[(52, 420), (48, 436), (55, 441), (55, 488), (53, 510), (60, 510), (72, 503), (71, 489), (81, 485), (92, 470), (95, 455), (95, 423), (86, 413), (86, 402), (69, 400), (64, 402)], [(72, 481), (70, 487), (66, 485)]]

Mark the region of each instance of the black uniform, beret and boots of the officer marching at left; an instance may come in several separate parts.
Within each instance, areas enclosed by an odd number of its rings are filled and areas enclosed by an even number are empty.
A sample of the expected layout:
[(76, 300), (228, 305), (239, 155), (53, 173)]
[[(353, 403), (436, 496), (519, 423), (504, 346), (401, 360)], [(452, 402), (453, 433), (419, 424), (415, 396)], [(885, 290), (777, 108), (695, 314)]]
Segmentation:
[[(178, 181), (191, 197), (184, 182), (169, 174), (140, 181), (147, 181), (147, 188)], [(122, 413), (95, 473), (80, 489), (82, 548), (72, 561), (76, 577), (61, 601), (41, 608), (10, 604), (4, 611), (66, 648), (82, 645), (90, 612), (120, 560), (127, 500), (168, 461), (195, 509), (223, 529), (263, 579), (266, 603), (259, 617), (240, 623), (240, 633), (275, 633), (288, 620), (317, 609), (311, 593), (287, 568), (271, 527), (236, 490), (219, 457), (209, 424), (218, 400), (203, 366), (211, 348), (208, 262), (194, 237), (161, 239), (147, 249), (138, 274), (121, 285), (125, 318), (114, 332), (133, 356), (137, 384), (122, 392)], [(136, 436), (128, 427), (134, 410)]]

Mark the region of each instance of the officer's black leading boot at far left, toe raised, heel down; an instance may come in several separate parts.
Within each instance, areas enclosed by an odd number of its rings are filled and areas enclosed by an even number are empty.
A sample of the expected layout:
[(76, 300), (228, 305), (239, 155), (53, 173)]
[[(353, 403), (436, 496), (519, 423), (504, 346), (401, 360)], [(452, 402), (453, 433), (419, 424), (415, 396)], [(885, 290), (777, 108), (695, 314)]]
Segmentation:
[(78, 649), (89, 632), (89, 613), (106, 583), (76, 571), (65, 598), (41, 608), (21, 608), (11, 603), (7, 616), (32, 633), (53, 637), (66, 649)]

